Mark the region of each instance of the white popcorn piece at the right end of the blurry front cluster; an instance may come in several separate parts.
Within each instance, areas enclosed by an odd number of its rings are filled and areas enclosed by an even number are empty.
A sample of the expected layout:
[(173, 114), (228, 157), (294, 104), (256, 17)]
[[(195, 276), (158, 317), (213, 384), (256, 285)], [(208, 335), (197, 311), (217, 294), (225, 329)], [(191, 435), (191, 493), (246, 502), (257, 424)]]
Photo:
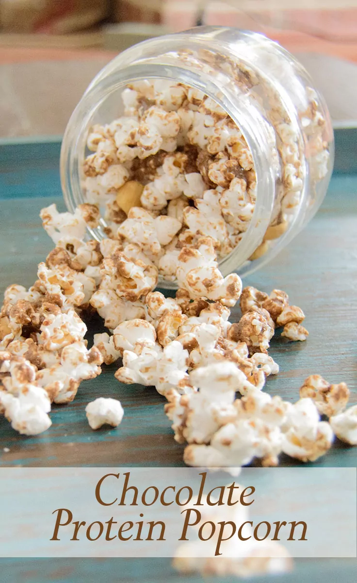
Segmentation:
[(334, 437), (330, 424), (320, 421), (317, 408), (309, 398), (289, 406), (282, 430), (282, 451), (302, 462), (314, 462), (326, 454)]

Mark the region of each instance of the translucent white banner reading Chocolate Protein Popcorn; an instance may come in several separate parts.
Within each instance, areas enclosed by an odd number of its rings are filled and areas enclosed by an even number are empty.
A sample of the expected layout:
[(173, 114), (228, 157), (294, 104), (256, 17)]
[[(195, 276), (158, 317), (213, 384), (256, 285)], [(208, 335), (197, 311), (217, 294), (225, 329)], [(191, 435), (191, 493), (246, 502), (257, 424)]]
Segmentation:
[(1, 468), (0, 556), (356, 557), (356, 471)]

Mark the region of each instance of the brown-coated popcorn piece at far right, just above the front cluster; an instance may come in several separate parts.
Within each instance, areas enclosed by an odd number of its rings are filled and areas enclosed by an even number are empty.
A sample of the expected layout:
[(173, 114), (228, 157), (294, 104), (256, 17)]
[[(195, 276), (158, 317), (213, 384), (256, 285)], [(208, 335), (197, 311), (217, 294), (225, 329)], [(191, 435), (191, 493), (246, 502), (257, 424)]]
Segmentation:
[(338, 415), (345, 409), (349, 399), (349, 388), (345, 382), (330, 385), (319, 374), (312, 374), (305, 379), (300, 387), (301, 398), (314, 401), (321, 415), (327, 417)]

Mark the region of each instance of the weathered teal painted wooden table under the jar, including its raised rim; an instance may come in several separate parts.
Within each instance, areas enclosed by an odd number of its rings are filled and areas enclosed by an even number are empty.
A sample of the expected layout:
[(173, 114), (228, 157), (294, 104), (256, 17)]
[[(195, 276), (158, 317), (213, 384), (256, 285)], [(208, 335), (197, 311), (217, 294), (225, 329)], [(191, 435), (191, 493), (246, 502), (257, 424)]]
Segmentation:
[[(338, 135), (337, 143), (337, 170), (352, 168), (346, 156), (353, 154), (356, 132)], [(38, 213), (54, 201), (64, 209), (58, 155), (56, 141), (0, 146), (0, 293), (10, 283), (30, 286), (36, 279), (38, 262), (51, 250), (52, 242), (41, 228)], [(264, 291), (284, 289), (292, 303), (305, 311), (310, 331), (307, 342), (291, 343), (278, 337), (271, 345), (270, 354), (279, 363), (280, 374), (268, 379), (266, 389), (288, 401), (298, 399), (299, 386), (308, 374), (320, 373), (331, 382), (347, 382), (351, 404), (357, 402), (356, 194), (357, 173), (335, 173), (323, 206), (305, 231), (270, 265), (243, 282)], [(238, 314), (239, 310), (234, 310), (234, 317)], [(91, 334), (93, 329), (89, 338)], [(162, 412), (164, 398), (153, 388), (119, 384), (114, 371), (115, 366), (105, 367), (95, 380), (80, 385), (73, 403), (54, 406), (52, 427), (40, 436), (20, 436), (1, 419), (1, 466), (181, 466), (183, 447), (172, 438)], [(84, 408), (98, 396), (121, 400), (125, 416), (117, 429), (90, 429)], [(288, 458), (282, 463), (294, 464)], [(326, 456), (310, 465), (356, 466), (357, 448), (336, 441)], [(355, 559), (299, 560), (294, 573), (284, 575), (283, 580), (352, 582), (357, 578), (356, 566)], [(182, 581), (166, 559), (3, 559), (1, 568), (1, 581), (11, 583), (77, 583), (100, 577), (140, 583)], [(192, 582), (200, 580), (198, 576), (190, 578)]]

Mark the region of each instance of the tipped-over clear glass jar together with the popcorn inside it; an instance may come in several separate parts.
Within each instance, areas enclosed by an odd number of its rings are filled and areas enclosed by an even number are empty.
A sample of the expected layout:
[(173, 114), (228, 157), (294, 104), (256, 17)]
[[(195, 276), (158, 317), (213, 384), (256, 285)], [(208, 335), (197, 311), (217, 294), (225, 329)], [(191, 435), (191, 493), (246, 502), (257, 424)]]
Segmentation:
[(176, 287), (182, 248), (210, 237), (222, 275), (246, 275), (316, 213), (333, 168), (326, 104), (261, 34), (199, 27), (129, 48), (70, 118), (61, 180), (91, 237), (139, 245)]

